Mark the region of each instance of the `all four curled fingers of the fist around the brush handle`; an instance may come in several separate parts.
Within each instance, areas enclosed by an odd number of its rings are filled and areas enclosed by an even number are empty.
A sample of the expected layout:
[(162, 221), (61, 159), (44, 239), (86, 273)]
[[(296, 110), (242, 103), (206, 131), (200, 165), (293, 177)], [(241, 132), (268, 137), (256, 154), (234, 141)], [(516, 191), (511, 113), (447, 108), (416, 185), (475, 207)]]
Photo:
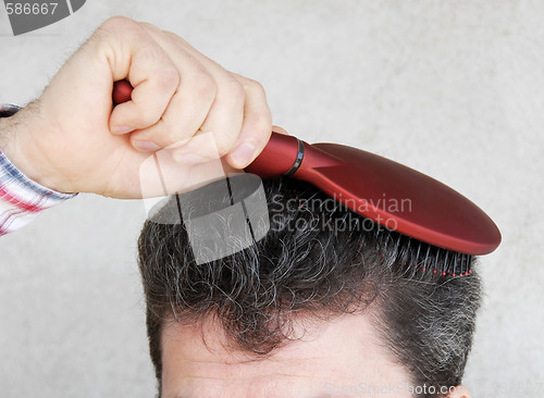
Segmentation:
[(121, 20), (131, 33), (121, 51), (131, 54), (129, 62), (109, 59), (114, 79), (128, 77), (134, 90), (131, 101), (114, 108), (112, 133), (132, 132), (131, 142), (140, 151), (171, 147), (180, 162), (226, 156), (234, 167), (248, 165), (272, 130), (263, 88), (225, 71), (172, 33)]

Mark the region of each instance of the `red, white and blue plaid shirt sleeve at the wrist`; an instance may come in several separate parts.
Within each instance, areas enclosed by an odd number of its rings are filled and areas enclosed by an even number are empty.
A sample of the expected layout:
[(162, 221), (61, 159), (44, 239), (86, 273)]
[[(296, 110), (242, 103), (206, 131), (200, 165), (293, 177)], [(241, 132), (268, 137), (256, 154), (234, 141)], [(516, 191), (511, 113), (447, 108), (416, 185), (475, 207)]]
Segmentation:
[[(18, 110), (15, 105), (0, 104), (0, 117)], [(0, 151), (0, 236), (25, 226), (44, 210), (75, 195), (57, 192), (32, 181)]]

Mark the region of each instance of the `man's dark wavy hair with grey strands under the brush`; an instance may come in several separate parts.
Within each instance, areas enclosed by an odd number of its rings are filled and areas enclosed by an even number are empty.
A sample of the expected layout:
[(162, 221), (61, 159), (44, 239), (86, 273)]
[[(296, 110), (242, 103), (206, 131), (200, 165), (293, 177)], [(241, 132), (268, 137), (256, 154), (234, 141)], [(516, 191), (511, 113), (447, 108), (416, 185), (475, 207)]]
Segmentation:
[[(480, 306), (480, 279), (468, 271), (474, 258), (369, 223), (308, 183), (274, 177), (263, 187), (268, 234), (205, 264), (195, 261), (183, 223), (146, 221), (138, 262), (159, 391), (166, 321), (213, 316), (232, 349), (265, 358), (297, 338), (295, 322), (371, 304), (384, 346), (413, 385), (459, 385)], [(419, 395), (431, 396), (441, 397)]]

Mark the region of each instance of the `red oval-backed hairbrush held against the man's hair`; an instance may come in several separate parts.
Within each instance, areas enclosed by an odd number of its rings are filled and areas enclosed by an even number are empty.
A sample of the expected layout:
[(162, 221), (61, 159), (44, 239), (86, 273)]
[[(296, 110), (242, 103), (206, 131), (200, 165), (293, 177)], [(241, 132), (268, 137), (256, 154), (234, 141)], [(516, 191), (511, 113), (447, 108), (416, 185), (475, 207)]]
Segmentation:
[[(131, 99), (116, 82), (113, 101)], [(246, 172), (290, 175), (313, 184), (353, 211), (424, 242), (467, 254), (487, 254), (500, 233), (478, 206), (448, 186), (386, 158), (337, 144), (307, 144), (272, 133)], [(394, 204), (397, 206), (394, 206)]]

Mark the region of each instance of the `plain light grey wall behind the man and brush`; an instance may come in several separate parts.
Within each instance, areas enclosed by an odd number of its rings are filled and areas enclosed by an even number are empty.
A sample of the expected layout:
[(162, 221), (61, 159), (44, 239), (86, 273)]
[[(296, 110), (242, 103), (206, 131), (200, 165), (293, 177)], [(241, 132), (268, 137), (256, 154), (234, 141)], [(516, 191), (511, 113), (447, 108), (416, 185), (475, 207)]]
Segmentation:
[[(260, 80), (274, 123), (378, 152), (496, 221), (465, 384), (544, 395), (541, 266), (544, 2), (98, 1), (13, 37), (0, 11), (0, 102), (36, 98), (108, 16), (177, 33)], [(0, 238), (2, 397), (151, 397), (136, 265), (138, 201), (82, 195)]]

